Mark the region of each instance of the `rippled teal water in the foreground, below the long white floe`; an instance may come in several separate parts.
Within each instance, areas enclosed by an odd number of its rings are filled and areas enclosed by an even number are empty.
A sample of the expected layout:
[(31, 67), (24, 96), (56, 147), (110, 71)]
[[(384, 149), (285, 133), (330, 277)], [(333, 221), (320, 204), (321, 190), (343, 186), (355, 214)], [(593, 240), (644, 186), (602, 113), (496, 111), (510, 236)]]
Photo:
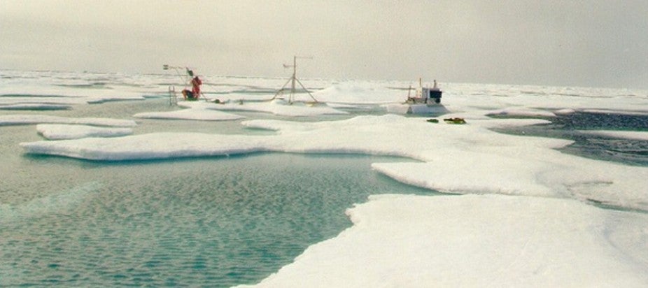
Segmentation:
[(69, 168), (69, 189), (0, 208), (3, 285), (257, 282), (350, 226), (344, 210), (369, 194), (430, 194), (369, 168), (393, 159), (353, 155), (32, 161)]

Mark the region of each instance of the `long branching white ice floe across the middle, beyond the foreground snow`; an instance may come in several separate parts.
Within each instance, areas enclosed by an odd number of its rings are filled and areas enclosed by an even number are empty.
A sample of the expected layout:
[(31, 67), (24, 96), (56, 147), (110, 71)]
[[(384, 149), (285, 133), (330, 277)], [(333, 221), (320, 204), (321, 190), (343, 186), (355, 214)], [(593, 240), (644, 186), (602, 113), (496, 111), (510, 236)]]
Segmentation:
[[(257, 151), (392, 155), (422, 162), (383, 163), (372, 167), (396, 180), (442, 192), (576, 197), (648, 210), (648, 194), (640, 180), (648, 177), (648, 168), (585, 159), (556, 150), (572, 141), (513, 136), (488, 129), (545, 121), (476, 119), (456, 125), (432, 124), (423, 118), (400, 115), (358, 116), (325, 122), (249, 120), (242, 124), (273, 130), (276, 134), (157, 133), (21, 145), (27, 153), (93, 160)], [(635, 180), (628, 179), (627, 175), (634, 175)]]

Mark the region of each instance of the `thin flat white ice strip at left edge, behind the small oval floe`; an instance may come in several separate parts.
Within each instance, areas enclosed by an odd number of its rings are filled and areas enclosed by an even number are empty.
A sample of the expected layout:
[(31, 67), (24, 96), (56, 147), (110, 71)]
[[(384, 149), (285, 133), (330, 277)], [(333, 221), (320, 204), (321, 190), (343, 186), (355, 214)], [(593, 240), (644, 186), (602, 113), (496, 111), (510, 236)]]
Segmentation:
[(60, 117), (51, 115), (0, 115), (0, 126), (2, 125), (20, 125), (20, 124), (86, 124), (93, 126), (114, 126), (114, 127), (133, 127), (137, 123), (133, 120), (121, 120), (112, 118), (74, 118)]

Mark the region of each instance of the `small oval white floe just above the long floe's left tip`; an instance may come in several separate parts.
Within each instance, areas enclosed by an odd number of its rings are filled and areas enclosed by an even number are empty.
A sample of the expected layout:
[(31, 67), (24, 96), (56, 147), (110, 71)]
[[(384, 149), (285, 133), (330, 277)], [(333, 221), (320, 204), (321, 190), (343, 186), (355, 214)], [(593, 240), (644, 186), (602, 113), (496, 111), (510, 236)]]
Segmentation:
[(38, 134), (49, 140), (78, 139), (86, 137), (116, 137), (133, 134), (130, 128), (94, 127), (70, 124), (38, 124)]

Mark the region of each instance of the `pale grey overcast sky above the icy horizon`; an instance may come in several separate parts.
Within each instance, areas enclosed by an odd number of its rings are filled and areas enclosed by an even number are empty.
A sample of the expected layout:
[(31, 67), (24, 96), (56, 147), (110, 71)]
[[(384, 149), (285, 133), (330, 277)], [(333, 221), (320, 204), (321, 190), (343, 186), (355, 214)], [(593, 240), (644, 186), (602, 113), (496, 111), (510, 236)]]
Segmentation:
[[(0, 69), (648, 88), (648, 1), (0, 0)], [(298, 75), (298, 76), (300, 76)]]

